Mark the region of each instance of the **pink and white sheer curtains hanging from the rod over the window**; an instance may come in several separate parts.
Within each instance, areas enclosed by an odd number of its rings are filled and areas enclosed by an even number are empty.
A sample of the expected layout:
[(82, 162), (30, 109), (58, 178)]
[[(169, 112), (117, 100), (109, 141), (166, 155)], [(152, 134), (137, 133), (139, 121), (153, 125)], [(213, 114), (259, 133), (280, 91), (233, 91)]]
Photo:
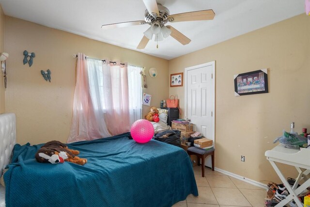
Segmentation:
[[(141, 118), (142, 68), (127, 67), (127, 64), (105, 64), (92, 58), (86, 58), (85, 61), (85, 55), (79, 55), (74, 113), (67, 142), (94, 140), (128, 132), (132, 123)], [(79, 69), (80, 65), (83, 70)], [(83, 81), (79, 77), (83, 77)], [(85, 106), (79, 107), (85, 102)]]

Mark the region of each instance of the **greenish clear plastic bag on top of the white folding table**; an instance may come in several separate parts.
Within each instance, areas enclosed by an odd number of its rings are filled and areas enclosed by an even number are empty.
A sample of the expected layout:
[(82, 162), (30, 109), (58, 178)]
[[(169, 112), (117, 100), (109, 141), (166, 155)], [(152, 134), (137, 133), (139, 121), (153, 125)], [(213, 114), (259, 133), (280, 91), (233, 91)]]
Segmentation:
[(283, 130), (283, 135), (278, 137), (273, 141), (273, 143), (278, 142), (287, 148), (299, 148), (300, 145), (303, 145), (308, 142), (307, 137), (291, 134)]

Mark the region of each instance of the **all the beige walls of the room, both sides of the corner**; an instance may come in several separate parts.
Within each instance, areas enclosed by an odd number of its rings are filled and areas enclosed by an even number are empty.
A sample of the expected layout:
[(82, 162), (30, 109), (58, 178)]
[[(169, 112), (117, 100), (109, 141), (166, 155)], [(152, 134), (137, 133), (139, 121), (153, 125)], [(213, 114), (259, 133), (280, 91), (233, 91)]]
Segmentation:
[[(279, 180), (264, 152), (275, 146), (272, 141), (282, 129), (289, 130), (292, 121), (298, 132), (302, 127), (310, 130), (310, 19), (305, 15), (171, 61), (9, 16), (5, 16), (4, 29), (4, 49), (10, 54), (5, 112), (16, 113), (17, 142), (21, 144), (66, 141), (75, 87), (76, 59), (72, 54), (78, 52), (147, 69), (156, 67), (157, 78), (147, 76), (148, 89), (143, 91), (152, 95), (151, 105), (158, 107), (170, 94), (179, 97), (182, 109), (184, 87), (169, 88), (170, 74), (216, 61), (216, 167), (237, 175), (256, 181)], [(31, 67), (22, 63), (24, 50), (36, 54)], [(233, 75), (263, 68), (268, 69), (269, 93), (235, 97)], [(51, 83), (40, 74), (47, 69), (52, 72)], [(0, 94), (1, 104), (3, 88)], [(143, 114), (148, 109), (143, 107)], [(241, 155), (246, 156), (246, 162), (240, 161)], [(291, 175), (291, 170), (286, 172)]]

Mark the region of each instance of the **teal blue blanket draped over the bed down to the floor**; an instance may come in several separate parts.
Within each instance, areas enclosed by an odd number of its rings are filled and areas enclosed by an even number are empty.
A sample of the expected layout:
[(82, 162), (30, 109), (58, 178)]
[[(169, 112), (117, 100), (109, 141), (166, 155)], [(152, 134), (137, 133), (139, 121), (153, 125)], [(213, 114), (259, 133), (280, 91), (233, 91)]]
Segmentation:
[(171, 207), (198, 196), (191, 161), (182, 148), (130, 134), (68, 144), (85, 165), (39, 163), (42, 144), (16, 144), (4, 174), (7, 207)]

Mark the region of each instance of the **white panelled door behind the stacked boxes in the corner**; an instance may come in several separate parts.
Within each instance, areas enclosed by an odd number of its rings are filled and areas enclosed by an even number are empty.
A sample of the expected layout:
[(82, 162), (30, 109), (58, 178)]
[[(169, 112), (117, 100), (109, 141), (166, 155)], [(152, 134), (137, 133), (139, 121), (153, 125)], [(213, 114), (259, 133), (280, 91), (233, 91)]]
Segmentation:
[[(185, 68), (186, 118), (194, 124), (194, 131), (215, 140), (215, 62)], [(206, 160), (211, 167), (211, 156)]]

